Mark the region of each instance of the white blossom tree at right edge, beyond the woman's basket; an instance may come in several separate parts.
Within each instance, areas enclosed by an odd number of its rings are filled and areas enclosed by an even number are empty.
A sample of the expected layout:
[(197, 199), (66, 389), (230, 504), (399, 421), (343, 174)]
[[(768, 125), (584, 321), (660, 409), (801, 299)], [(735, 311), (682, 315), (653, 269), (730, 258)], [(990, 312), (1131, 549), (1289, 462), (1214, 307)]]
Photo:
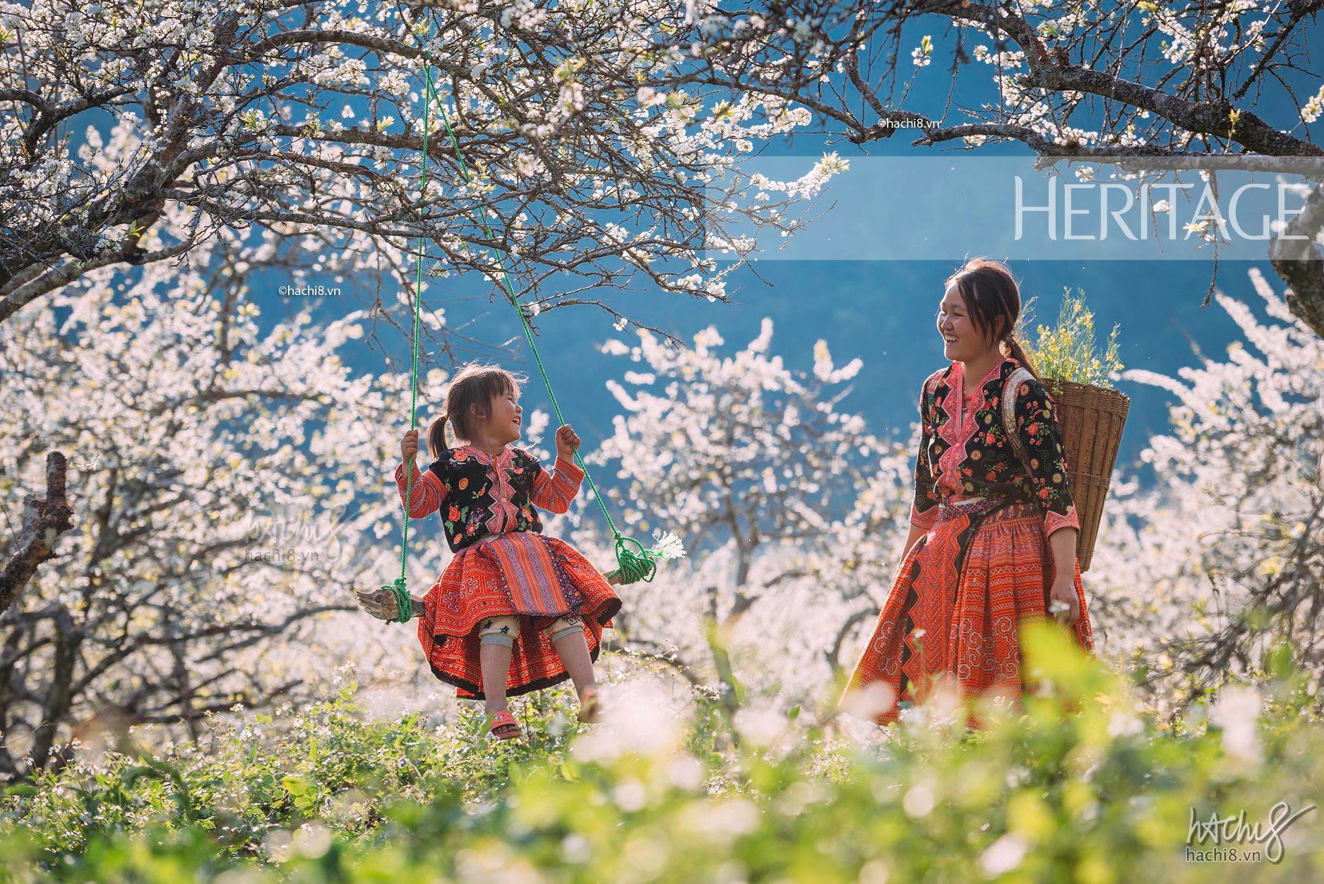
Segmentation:
[(1245, 336), (1225, 360), (1123, 373), (1177, 401), (1141, 454), (1151, 480), (1115, 486), (1090, 574), (1107, 642), (1168, 704), (1255, 678), (1279, 647), (1324, 674), (1324, 341), (1250, 279), (1267, 320), (1218, 292)]

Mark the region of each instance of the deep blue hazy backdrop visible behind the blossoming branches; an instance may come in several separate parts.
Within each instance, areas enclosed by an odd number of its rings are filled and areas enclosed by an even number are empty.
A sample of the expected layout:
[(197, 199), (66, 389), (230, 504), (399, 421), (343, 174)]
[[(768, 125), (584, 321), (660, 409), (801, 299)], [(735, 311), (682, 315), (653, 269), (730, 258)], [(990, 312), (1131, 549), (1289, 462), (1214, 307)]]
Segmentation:
[[(933, 64), (920, 71), (904, 110), (936, 115), (948, 99), (951, 78), (945, 66), (951, 44), (941, 28), (940, 22), (923, 17), (912, 20), (908, 28), (908, 42), (903, 41), (902, 53), (907, 69), (903, 79), (910, 75), (908, 50), (919, 45), (922, 34), (932, 33), (936, 48)], [(959, 105), (994, 99), (989, 70), (985, 65), (972, 64), (963, 71), (956, 94)], [(1313, 89), (1309, 89), (1307, 94), (1312, 93)], [(1295, 105), (1286, 97), (1262, 102), (1254, 110), (1283, 128), (1299, 122)], [(953, 114), (949, 120), (957, 118)], [(960, 163), (976, 156), (952, 147), (911, 147), (916, 134), (902, 131), (865, 148), (849, 143), (829, 144), (821, 135), (802, 135), (771, 144), (765, 154), (804, 157), (806, 171), (825, 150), (835, 150), (847, 159), (943, 152)], [(1026, 154), (1029, 151), (1021, 146), (1004, 144), (980, 148), (977, 155)], [(907, 206), (896, 210), (959, 212), (960, 206)], [(828, 225), (829, 234), (834, 230), (839, 230), (841, 236), (853, 234), (850, 218), (829, 213), (816, 224)], [(961, 254), (980, 254), (960, 241), (953, 242), (953, 250), (956, 254), (951, 261), (763, 261), (757, 265), (757, 275), (749, 269), (732, 274), (728, 279), (732, 299), (726, 304), (657, 291), (613, 290), (604, 296), (632, 318), (681, 337), (688, 337), (702, 327), (716, 326), (730, 349), (752, 339), (763, 318), (771, 316), (776, 324), (773, 351), (792, 367), (808, 369), (813, 364), (814, 341), (826, 340), (838, 364), (857, 356), (865, 364), (845, 408), (862, 414), (875, 433), (903, 434), (915, 420), (920, 381), (944, 364), (932, 327), (943, 279), (959, 266)], [(1223, 261), (1218, 282), (1221, 288), (1245, 298), (1254, 307), (1256, 298), (1246, 277), (1253, 265), (1259, 266), (1270, 281), (1276, 281), (1267, 261)], [(1041, 320), (1057, 315), (1064, 287), (1083, 290), (1099, 328), (1120, 324), (1121, 357), (1127, 368), (1174, 373), (1196, 361), (1192, 343), (1217, 357), (1237, 335), (1235, 326), (1217, 304), (1207, 308), (1200, 306), (1213, 271), (1209, 261), (1017, 259), (1012, 262), (1012, 269), (1023, 281), (1023, 298), (1037, 299), (1035, 316)], [(545, 408), (545, 394), (536, 381), (532, 359), (524, 348), (511, 307), (478, 278), (433, 281), (430, 288), (429, 303), (440, 302), (445, 307), (449, 324), (463, 326), (466, 335), (491, 347), (508, 344), (515, 348), (512, 356), (502, 359), (503, 364), (535, 378), (526, 390), (526, 405)], [(275, 312), (283, 312), (285, 306), (270, 303), (281, 300), (274, 286), (257, 296), (267, 302), (263, 306), (269, 310), (275, 307)], [(297, 300), (307, 303), (306, 299)], [(352, 306), (346, 298), (326, 299), (318, 310), (328, 315), (327, 311)], [(561, 406), (584, 437), (585, 447), (592, 449), (596, 438), (609, 433), (618, 408), (608, 394), (605, 381), (629, 368), (622, 359), (601, 355), (600, 345), (621, 332), (612, 328), (609, 315), (592, 307), (545, 314), (539, 320), (539, 347)], [(388, 339), (388, 343), (396, 345), (395, 356), (406, 363), (406, 341)], [(469, 352), (461, 348), (461, 353), (493, 356), (487, 347)], [(380, 353), (365, 352), (357, 360), (365, 369), (381, 369)], [(1129, 463), (1151, 434), (1164, 430), (1170, 394), (1127, 382), (1120, 389), (1132, 396), (1132, 412), (1119, 457), (1121, 463)], [(406, 414), (408, 402), (401, 402), (401, 422)], [(426, 422), (426, 416), (421, 420)]]

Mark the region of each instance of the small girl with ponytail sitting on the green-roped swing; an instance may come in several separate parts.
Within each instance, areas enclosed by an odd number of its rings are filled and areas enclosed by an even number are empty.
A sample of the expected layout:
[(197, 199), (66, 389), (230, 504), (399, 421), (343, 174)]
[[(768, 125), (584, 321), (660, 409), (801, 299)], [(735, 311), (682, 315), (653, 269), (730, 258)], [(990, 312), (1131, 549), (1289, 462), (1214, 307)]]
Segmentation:
[[(511, 445), (522, 420), (519, 382), (510, 372), (465, 365), (450, 382), (445, 413), (428, 427), (432, 464), (418, 471), (418, 431), (409, 430), (396, 468), (409, 517), (440, 512), (455, 553), (428, 594), (413, 599), (418, 641), (433, 675), (453, 684), (457, 696), (483, 700), (489, 733), (498, 740), (522, 736), (506, 697), (567, 678), (579, 693), (579, 720), (601, 719), (593, 662), (602, 629), (621, 609), (584, 556), (543, 536), (535, 508), (569, 509), (584, 478), (573, 462), (579, 435), (569, 425), (556, 430), (556, 463), (548, 471)], [(461, 445), (448, 445), (446, 421)], [(396, 614), (388, 592), (359, 596), (373, 617)]]

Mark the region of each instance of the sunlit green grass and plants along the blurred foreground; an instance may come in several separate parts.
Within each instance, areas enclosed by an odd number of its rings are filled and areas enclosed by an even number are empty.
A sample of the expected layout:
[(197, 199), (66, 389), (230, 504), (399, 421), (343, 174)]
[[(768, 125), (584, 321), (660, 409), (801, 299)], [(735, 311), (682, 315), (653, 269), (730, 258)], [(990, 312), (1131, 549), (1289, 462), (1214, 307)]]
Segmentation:
[(696, 700), (678, 740), (636, 752), (575, 725), (563, 691), (520, 699), (528, 744), (489, 745), (477, 712), (445, 729), (372, 723), (346, 689), (12, 789), (0, 880), (1320, 877), (1319, 811), (1288, 830), (1280, 863), (1185, 859), (1193, 811), (1254, 823), (1280, 799), (1320, 801), (1324, 732), (1290, 667), (1247, 746), (1202, 703), (1173, 727), (1137, 713), (1124, 680), (1057, 630), (1025, 647), (1043, 689), (1023, 713), (981, 732), (903, 725), (869, 750), (809, 716), (759, 749)]

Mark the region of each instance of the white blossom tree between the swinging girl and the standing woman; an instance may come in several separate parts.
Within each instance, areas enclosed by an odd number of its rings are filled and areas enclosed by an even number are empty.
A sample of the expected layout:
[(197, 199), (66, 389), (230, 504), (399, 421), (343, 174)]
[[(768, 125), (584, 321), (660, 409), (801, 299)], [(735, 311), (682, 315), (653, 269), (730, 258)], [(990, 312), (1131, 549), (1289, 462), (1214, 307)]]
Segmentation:
[(771, 351), (772, 322), (723, 356), (707, 328), (692, 347), (649, 332), (605, 352), (638, 364), (609, 381), (625, 414), (592, 454), (637, 531), (674, 531), (690, 557), (638, 584), (617, 617), (620, 647), (666, 662), (737, 705), (812, 701), (831, 684), (853, 611), (887, 589), (904, 536), (911, 454), (841, 410), (861, 360), (828, 345), (812, 371)]

